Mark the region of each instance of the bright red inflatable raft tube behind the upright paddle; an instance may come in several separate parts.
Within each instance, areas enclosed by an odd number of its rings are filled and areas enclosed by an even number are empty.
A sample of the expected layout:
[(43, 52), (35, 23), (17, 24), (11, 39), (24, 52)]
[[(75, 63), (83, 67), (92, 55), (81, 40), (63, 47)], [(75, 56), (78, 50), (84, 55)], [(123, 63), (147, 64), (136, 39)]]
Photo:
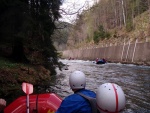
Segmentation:
[[(9, 104), (4, 113), (27, 113), (26, 96), (21, 96)], [(62, 99), (54, 93), (36, 94), (29, 96), (30, 113), (55, 113)]]

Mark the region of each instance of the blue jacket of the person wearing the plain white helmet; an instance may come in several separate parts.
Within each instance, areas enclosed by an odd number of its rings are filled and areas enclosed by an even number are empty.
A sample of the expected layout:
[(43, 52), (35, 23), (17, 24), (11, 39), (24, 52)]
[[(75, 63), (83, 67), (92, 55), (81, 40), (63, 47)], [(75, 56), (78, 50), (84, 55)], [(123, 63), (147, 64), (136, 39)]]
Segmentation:
[[(93, 91), (87, 90), (87, 89), (82, 89), (79, 90), (78, 92), (90, 96), (93, 98), (96, 98), (96, 94)], [(90, 107), (90, 103), (88, 100), (83, 98), (82, 96), (74, 93), (72, 95), (69, 95), (66, 97), (56, 113), (91, 113), (92, 109)]]

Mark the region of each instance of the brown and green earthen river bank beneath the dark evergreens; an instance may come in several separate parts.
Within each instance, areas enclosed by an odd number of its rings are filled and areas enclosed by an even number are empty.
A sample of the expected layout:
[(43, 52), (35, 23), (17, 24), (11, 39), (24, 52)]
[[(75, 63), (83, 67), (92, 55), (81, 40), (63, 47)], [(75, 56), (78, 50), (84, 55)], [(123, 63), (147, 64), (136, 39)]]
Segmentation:
[(34, 85), (34, 93), (39, 92), (39, 86), (49, 86), (51, 72), (42, 65), (29, 65), (14, 63), (7, 59), (0, 58), (0, 98), (4, 98), (7, 104), (21, 95), (25, 95), (21, 89), (23, 82)]

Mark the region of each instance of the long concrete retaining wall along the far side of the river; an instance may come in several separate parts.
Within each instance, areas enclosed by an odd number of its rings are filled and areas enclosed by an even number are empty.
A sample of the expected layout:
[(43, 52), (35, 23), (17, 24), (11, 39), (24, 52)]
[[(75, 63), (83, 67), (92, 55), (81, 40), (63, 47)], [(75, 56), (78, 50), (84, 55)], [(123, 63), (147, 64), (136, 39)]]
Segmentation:
[(123, 45), (65, 50), (63, 58), (95, 60), (105, 58), (108, 62), (150, 66), (150, 42), (127, 42)]

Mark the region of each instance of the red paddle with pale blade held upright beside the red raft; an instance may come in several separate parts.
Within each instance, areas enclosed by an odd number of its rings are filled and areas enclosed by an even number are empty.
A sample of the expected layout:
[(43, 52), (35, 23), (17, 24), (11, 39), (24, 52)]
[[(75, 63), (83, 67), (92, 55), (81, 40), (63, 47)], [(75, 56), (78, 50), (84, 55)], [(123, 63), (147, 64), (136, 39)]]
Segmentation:
[(29, 113), (29, 94), (33, 93), (33, 85), (23, 82), (22, 90), (27, 94), (27, 113)]

